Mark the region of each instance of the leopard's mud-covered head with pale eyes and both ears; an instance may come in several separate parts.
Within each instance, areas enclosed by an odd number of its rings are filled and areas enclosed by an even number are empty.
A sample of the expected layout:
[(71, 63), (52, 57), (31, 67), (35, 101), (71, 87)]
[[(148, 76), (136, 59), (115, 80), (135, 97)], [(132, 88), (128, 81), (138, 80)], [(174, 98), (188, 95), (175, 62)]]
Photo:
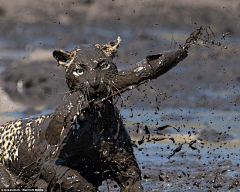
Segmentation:
[(66, 70), (70, 91), (81, 91), (89, 98), (105, 97), (111, 92), (109, 77), (118, 72), (113, 62), (120, 37), (105, 45), (81, 45), (73, 51), (55, 50), (53, 57)]

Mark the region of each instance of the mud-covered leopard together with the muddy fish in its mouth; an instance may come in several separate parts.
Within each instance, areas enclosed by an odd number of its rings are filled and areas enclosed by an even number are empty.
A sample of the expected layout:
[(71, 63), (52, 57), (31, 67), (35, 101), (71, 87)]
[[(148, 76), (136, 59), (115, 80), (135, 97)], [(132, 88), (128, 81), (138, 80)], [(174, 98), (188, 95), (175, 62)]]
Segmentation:
[(170, 70), (187, 57), (189, 45), (118, 71), (113, 58), (120, 42), (53, 52), (66, 70), (69, 91), (54, 113), (0, 127), (0, 187), (97, 191), (103, 180), (113, 179), (121, 191), (143, 191), (114, 98)]

